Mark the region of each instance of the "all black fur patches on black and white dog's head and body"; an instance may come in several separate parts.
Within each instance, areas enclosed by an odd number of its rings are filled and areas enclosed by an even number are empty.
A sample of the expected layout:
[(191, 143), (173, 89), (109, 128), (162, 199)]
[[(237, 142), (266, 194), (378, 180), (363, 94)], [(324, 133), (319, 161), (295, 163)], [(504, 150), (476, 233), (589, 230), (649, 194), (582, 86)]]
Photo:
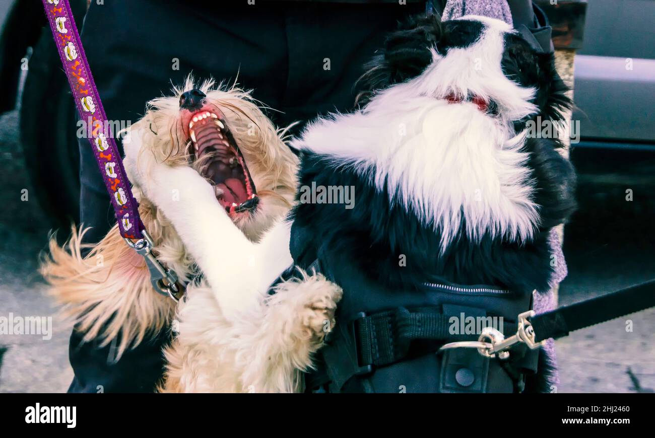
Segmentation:
[[(430, 47), (443, 54), (451, 47), (471, 45), (483, 26), (479, 22), (441, 24), (434, 16), (413, 18), (392, 33), (374, 60), (366, 78), (375, 90), (407, 81), (424, 71), (432, 57)], [(535, 103), (542, 118), (561, 119), (560, 111), (570, 105), (554, 69), (552, 54), (536, 53), (518, 35), (506, 38), (504, 73), (523, 86), (538, 88)], [(536, 116), (535, 116), (536, 117)], [(525, 122), (525, 121), (523, 121)], [(523, 244), (483, 236), (471, 242), (462, 232), (443, 255), (439, 255), (440, 234), (423, 225), (413, 211), (407, 211), (388, 189), (382, 192), (369, 175), (358, 175), (351, 167), (336, 166), (326, 156), (301, 156), (300, 185), (354, 186), (356, 206), (345, 210), (340, 204), (298, 204), (295, 226), (312, 236), (314, 249), (331, 248), (348, 253), (373, 280), (394, 287), (411, 287), (437, 277), (459, 284), (497, 285), (515, 291), (547, 291), (552, 274), (548, 232), (563, 223), (575, 208), (575, 176), (568, 160), (557, 153), (556, 139), (530, 138), (528, 166), (540, 206), (541, 226), (531, 241)], [(399, 255), (407, 266), (399, 266)]]

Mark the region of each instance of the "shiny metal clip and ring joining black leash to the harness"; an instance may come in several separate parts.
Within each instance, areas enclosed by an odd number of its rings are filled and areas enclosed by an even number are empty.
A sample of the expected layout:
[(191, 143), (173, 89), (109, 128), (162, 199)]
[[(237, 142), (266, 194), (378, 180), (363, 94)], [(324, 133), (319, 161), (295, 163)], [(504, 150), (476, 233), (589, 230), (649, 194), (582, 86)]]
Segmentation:
[(534, 329), (528, 318), (534, 316), (534, 310), (528, 310), (519, 314), (518, 329), (515, 335), (505, 338), (500, 331), (493, 327), (485, 327), (480, 334), (477, 341), (463, 341), (463, 342), (450, 342), (444, 344), (439, 350), (449, 350), (450, 348), (477, 348), (477, 352), (485, 357), (496, 357), (498, 359), (508, 359), (510, 357), (510, 350), (515, 344), (523, 342), (531, 350), (539, 348), (546, 343), (545, 340), (541, 342), (534, 342)]

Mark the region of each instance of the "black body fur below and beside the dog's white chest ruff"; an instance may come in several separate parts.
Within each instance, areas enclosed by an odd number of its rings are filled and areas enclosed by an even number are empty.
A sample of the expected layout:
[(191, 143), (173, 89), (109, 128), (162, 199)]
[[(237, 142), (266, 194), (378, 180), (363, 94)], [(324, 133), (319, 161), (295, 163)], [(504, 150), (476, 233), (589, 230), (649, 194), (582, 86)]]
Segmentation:
[[(335, 167), (322, 155), (305, 155), (300, 185), (355, 187), (355, 206), (298, 204), (295, 226), (303, 227), (316, 245), (333, 253), (348, 253), (372, 280), (392, 287), (415, 287), (432, 278), (458, 284), (489, 284), (514, 291), (547, 291), (552, 274), (548, 231), (567, 219), (575, 206), (574, 173), (548, 139), (529, 139), (529, 166), (536, 181), (535, 201), (543, 226), (525, 244), (484, 236), (471, 242), (463, 232), (445, 254), (439, 255), (440, 234), (422, 225), (413, 211), (390, 200), (386, 189), (377, 192), (371, 179), (352, 168)], [(407, 265), (399, 266), (404, 254)]]

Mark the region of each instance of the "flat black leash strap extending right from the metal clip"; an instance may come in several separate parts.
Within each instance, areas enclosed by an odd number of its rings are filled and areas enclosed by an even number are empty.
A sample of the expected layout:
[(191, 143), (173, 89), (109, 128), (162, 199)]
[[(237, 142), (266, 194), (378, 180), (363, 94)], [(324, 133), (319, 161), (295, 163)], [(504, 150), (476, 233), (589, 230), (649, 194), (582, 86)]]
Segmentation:
[(535, 342), (655, 306), (655, 280), (533, 316)]

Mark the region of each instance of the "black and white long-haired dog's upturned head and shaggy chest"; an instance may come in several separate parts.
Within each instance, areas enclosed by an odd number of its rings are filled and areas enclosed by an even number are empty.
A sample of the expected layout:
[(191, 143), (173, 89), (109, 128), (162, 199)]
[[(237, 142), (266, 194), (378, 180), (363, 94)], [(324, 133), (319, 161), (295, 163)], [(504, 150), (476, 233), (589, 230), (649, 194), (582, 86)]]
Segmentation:
[(499, 20), (419, 18), (365, 79), (362, 111), (319, 119), (293, 143), (300, 185), (353, 186), (356, 204), (299, 204), (296, 226), (389, 285), (431, 274), (548, 291), (547, 237), (574, 210), (575, 175), (559, 139), (526, 125), (561, 122), (571, 105), (553, 55)]

